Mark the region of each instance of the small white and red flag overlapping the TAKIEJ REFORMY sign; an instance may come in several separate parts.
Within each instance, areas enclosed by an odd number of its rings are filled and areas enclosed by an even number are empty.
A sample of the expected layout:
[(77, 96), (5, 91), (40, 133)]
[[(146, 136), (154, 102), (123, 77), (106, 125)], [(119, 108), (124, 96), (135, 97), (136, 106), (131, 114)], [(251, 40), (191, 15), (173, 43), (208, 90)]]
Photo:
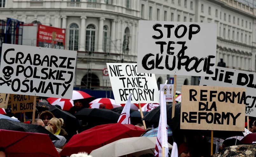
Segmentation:
[(117, 123), (131, 124), (131, 121), (130, 121), (131, 100), (132, 100), (132, 94), (129, 95), (128, 100), (123, 108), (123, 111), (122, 111)]

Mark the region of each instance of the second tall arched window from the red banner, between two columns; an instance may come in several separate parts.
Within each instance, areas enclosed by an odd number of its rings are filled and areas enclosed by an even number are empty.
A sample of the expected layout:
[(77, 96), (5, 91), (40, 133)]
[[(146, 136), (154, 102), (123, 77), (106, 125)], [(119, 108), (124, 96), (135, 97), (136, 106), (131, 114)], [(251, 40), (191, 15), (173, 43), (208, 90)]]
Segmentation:
[(93, 52), (95, 48), (95, 26), (89, 24), (86, 27), (85, 51)]

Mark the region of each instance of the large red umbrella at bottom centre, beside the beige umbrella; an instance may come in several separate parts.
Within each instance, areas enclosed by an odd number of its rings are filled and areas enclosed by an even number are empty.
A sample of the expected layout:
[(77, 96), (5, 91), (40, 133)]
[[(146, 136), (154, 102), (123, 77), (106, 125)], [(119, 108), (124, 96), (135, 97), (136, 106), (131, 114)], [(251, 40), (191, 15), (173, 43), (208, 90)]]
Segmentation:
[(139, 137), (144, 132), (145, 130), (131, 124), (113, 123), (95, 126), (74, 135), (60, 155), (70, 156), (78, 152), (91, 153), (94, 149), (108, 143), (128, 137)]

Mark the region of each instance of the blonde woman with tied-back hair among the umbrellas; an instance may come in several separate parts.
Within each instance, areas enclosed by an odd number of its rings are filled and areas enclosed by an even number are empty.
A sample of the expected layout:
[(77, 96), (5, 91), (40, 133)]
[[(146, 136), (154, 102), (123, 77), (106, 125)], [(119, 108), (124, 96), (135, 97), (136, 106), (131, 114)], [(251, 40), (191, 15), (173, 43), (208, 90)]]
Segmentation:
[(62, 128), (64, 125), (64, 120), (62, 118), (52, 118), (48, 122), (48, 126), (51, 126), (54, 134), (64, 136), (65, 138), (68, 136), (67, 132)]

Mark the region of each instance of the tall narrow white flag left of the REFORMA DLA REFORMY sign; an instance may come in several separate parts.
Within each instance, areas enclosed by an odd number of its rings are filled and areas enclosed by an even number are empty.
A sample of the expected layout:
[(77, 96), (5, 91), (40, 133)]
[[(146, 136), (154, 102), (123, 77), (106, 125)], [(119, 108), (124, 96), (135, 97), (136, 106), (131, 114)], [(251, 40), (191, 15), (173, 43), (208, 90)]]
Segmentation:
[(155, 156), (162, 157), (164, 147), (164, 157), (168, 157), (168, 138), (167, 138), (167, 115), (166, 101), (163, 91), (160, 92), (160, 119), (156, 138)]

